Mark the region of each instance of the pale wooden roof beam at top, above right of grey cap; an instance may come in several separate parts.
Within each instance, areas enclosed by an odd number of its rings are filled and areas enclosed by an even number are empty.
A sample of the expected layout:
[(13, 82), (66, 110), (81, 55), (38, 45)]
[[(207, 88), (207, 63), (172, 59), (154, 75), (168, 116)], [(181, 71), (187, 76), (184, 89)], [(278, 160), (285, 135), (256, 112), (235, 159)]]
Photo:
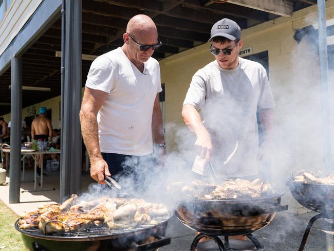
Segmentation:
[(287, 0), (229, 0), (228, 3), (286, 17), (292, 16), (293, 11), (293, 3)]

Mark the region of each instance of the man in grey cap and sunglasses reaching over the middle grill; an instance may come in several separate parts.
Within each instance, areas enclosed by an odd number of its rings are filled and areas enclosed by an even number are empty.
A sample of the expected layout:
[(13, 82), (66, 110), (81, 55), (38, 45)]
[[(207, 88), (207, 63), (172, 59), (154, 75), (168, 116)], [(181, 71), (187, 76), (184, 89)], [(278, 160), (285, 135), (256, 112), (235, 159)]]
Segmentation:
[(208, 42), (215, 60), (195, 73), (182, 108), (185, 124), (197, 137), (193, 171), (206, 174), (210, 164), (218, 177), (255, 177), (259, 158), (266, 156), (262, 149), (268, 149), (270, 142), (275, 105), (266, 70), (238, 57), (243, 41), (232, 20), (215, 23)]

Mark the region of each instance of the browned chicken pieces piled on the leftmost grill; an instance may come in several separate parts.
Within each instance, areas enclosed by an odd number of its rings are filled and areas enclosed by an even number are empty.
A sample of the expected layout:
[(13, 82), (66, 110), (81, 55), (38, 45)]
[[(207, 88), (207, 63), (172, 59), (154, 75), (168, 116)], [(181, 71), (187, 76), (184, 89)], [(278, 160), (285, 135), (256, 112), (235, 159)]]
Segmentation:
[(151, 218), (168, 214), (160, 203), (148, 203), (142, 199), (101, 198), (80, 201), (73, 194), (63, 204), (49, 204), (21, 216), (21, 229), (40, 228), (45, 233), (59, 231), (82, 231), (92, 225), (110, 229), (133, 227), (138, 223), (155, 224)]

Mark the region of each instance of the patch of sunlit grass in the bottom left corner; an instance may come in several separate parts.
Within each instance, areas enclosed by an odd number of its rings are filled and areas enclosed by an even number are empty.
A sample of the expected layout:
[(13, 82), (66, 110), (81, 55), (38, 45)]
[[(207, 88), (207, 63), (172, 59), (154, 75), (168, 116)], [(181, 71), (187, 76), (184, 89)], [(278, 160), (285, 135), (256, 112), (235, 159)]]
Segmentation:
[(15, 213), (0, 202), (0, 251), (26, 250), (20, 232), (14, 228), (17, 218)]

